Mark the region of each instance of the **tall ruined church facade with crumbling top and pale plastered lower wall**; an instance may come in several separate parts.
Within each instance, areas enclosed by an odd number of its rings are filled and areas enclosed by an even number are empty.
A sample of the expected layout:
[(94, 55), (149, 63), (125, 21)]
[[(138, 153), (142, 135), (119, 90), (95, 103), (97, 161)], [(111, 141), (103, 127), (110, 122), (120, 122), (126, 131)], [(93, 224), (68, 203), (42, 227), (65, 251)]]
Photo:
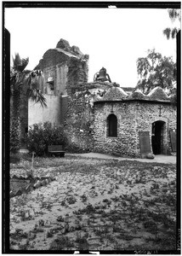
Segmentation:
[(48, 108), (29, 101), (29, 125), (50, 121), (63, 124), (70, 87), (88, 81), (88, 55), (77, 46), (60, 39), (56, 48), (48, 49), (35, 69), (42, 70), (39, 89), (46, 98)]

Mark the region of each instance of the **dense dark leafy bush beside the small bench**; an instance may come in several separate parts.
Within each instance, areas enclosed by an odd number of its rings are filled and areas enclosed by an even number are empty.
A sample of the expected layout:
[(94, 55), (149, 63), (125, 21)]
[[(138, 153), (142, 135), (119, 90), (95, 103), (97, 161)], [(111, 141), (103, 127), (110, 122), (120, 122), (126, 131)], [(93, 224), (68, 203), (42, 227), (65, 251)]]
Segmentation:
[(34, 124), (29, 127), (27, 148), (37, 155), (48, 153), (48, 145), (65, 145), (66, 137), (62, 125), (52, 125), (50, 122)]

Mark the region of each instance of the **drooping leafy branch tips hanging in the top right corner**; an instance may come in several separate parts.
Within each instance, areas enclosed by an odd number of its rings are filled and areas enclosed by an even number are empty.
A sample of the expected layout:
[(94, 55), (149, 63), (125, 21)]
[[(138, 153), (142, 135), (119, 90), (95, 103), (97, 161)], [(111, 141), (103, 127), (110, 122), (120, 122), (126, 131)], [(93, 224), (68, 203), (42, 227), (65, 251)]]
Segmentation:
[[(175, 20), (179, 20), (181, 19), (181, 13), (180, 13), (180, 9), (168, 9), (168, 15), (169, 18), (172, 20), (172, 22), (174, 22)], [(163, 34), (167, 37), (167, 39), (169, 38), (176, 38), (177, 33), (179, 32), (179, 28), (177, 27), (167, 27), (163, 30)]]

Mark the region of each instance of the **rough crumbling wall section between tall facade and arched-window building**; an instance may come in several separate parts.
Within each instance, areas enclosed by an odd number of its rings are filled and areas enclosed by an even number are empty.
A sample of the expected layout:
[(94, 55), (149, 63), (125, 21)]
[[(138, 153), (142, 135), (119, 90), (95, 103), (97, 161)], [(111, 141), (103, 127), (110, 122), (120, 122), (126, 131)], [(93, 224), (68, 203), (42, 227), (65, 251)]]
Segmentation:
[(94, 99), (111, 84), (90, 83), (72, 87), (68, 97), (65, 132), (69, 146), (82, 152), (94, 148)]

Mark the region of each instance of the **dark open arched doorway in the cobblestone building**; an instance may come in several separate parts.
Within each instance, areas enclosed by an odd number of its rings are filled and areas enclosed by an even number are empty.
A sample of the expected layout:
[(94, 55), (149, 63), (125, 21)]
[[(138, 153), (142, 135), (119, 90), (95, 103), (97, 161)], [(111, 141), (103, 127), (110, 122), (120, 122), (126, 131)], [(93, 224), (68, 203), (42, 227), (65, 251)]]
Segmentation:
[(151, 145), (153, 154), (164, 154), (164, 130), (165, 122), (156, 121), (152, 123)]

